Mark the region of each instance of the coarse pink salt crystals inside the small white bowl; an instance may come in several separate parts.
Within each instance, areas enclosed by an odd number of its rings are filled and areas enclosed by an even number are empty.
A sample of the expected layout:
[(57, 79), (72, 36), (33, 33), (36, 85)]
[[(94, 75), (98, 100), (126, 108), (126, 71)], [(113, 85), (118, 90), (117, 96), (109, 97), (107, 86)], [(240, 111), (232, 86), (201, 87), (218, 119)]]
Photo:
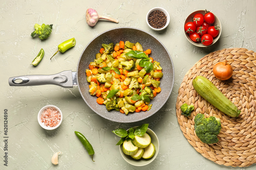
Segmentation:
[(55, 108), (47, 108), (41, 114), (41, 122), (48, 127), (54, 127), (60, 122), (60, 113)]

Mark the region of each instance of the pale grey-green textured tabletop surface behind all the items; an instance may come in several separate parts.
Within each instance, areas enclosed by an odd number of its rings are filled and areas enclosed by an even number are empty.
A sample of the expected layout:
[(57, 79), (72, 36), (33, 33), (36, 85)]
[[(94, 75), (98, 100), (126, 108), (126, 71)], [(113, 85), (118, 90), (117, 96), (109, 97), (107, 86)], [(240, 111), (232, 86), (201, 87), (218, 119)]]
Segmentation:
[[(145, 21), (148, 10), (163, 7), (170, 23), (163, 31), (151, 30)], [(94, 27), (86, 23), (87, 8), (99, 15), (119, 20), (119, 23), (98, 21)], [(199, 48), (190, 44), (183, 33), (183, 22), (197, 9), (212, 11), (222, 23), (220, 40), (214, 45)], [(199, 154), (183, 136), (177, 122), (175, 103), (178, 88), (185, 73), (200, 58), (223, 48), (243, 47), (254, 50), (255, 1), (5, 1), (0, 2), (0, 169), (255, 169), (218, 165)], [(53, 24), (46, 40), (31, 38), (34, 24)], [(76, 71), (84, 47), (99, 33), (115, 27), (135, 27), (156, 36), (168, 49), (175, 68), (175, 84), (168, 101), (153, 116), (135, 123), (116, 123), (95, 114), (83, 101), (77, 87), (55, 85), (10, 87), (8, 78), (18, 75), (55, 74), (64, 70)], [(61, 42), (76, 38), (76, 46), (65, 53), (49, 58)], [(45, 56), (37, 67), (29, 65), (40, 49)], [(153, 50), (153, 49), (152, 49)], [(38, 111), (45, 105), (59, 107), (63, 122), (56, 130), (42, 129), (37, 122)], [(4, 166), (3, 123), (8, 109), (8, 167)], [(143, 123), (159, 138), (156, 159), (144, 167), (126, 163), (115, 146), (119, 137), (111, 132), (128, 129)], [(95, 162), (81, 145), (74, 131), (83, 133), (92, 144)], [(55, 152), (59, 164), (51, 163)]]

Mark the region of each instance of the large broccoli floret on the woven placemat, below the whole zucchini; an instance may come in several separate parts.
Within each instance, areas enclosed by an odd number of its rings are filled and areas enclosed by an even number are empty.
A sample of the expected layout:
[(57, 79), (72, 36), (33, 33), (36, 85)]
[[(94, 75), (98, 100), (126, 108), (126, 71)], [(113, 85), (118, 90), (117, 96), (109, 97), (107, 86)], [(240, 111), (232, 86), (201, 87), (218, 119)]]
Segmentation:
[(214, 116), (204, 118), (205, 115), (198, 113), (194, 119), (195, 132), (200, 140), (204, 143), (216, 143), (219, 141), (217, 135), (220, 133), (221, 123), (220, 119)]

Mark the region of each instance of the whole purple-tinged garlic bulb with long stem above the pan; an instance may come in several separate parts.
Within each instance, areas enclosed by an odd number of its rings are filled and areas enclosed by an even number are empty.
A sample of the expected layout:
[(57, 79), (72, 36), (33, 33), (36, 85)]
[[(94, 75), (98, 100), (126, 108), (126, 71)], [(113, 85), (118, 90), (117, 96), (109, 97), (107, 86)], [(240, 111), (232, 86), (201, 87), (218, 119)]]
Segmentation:
[(98, 22), (99, 19), (105, 19), (105, 20), (109, 20), (109, 21), (118, 23), (118, 20), (116, 20), (116, 19), (98, 15), (98, 12), (92, 8), (88, 8), (86, 10), (86, 22), (88, 23), (88, 25), (90, 25), (90, 26), (96, 25), (96, 23)]

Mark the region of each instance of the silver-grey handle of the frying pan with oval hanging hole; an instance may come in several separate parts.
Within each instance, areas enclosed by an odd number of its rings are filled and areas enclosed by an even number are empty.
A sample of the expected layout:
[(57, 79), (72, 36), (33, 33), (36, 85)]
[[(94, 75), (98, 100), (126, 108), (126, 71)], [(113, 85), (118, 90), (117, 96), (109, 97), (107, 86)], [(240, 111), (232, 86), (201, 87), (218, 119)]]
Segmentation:
[(52, 75), (23, 75), (9, 78), (10, 86), (37, 86), (46, 84), (71, 88), (73, 87), (72, 71), (62, 71)]

